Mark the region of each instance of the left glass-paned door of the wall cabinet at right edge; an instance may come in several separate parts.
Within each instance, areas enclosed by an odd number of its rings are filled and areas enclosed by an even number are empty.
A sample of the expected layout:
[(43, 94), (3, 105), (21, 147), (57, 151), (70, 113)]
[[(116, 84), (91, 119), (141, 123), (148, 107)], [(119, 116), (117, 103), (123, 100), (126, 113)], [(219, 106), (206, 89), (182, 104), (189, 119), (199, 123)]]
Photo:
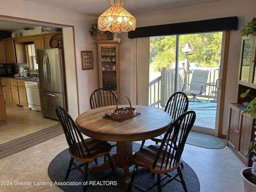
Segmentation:
[(248, 82), (250, 74), (250, 60), (252, 54), (252, 38), (243, 40), (241, 63), (240, 63), (240, 81)]

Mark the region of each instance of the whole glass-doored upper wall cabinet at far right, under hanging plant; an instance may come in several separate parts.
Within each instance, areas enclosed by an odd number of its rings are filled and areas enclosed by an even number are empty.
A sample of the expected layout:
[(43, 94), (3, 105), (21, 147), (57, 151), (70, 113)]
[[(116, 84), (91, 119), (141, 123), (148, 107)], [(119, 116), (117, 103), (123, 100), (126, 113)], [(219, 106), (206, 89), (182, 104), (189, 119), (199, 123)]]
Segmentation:
[(238, 83), (256, 88), (256, 35), (243, 36)]

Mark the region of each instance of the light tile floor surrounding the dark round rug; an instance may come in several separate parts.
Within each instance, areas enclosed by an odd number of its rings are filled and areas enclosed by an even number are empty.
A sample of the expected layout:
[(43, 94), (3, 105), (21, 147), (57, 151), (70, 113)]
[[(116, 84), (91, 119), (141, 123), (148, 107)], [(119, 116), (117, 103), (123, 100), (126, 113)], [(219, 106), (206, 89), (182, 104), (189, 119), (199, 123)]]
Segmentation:
[[(30, 112), (34, 113), (33, 111), (29, 111), (28, 113)], [(18, 115), (18, 113), (16, 113), (16, 115)], [(20, 116), (18, 115), (17, 118), (13, 118), (10, 123), (16, 122), (19, 124), (19, 117)], [(43, 124), (41, 122), (42, 119), (40, 118), (42, 117), (38, 117), (40, 123), (37, 123), (37, 126)], [(22, 118), (22, 121), (26, 122), (27, 132), (34, 130), (35, 125), (30, 126), (30, 121), (32, 121), (30, 118), (27, 120)], [(54, 122), (47, 122), (44, 125), (54, 124)], [(20, 130), (22, 128), (21, 126), (14, 127), (15, 128), (10, 126), (12, 133), (17, 132), (17, 129)], [(2, 126), (0, 126), (0, 133), (2, 133), (2, 129), (6, 134), (7, 130), (6, 128), (2, 128)], [(36, 129), (39, 130), (41, 128)], [(4, 139), (4, 135), (0, 134), (1, 142), (2, 139)], [(150, 141), (146, 141), (146, 145), (148, 144), (150, 144)], [(1, 159), (0, 182), (50, 182), (51, 180), (48, 177), (47, 172), (48, 165), (59, 152), (66, 148), (68, 148), (68, 145), (66, 144), (64, 134), (62, 134), (46, 142)], [(212, 150), (186, 144), (183, 152), (183, 160), (187, 162), (198, 175), (200, 180), (200, 192), (243, 192), (240, 170), (246, 166), (239, 160), (239, 158), (237, 158), (230, 148), (225, 147), (223, 149)], [(14, 191), (58, 192), (62, 190), (58, 188), (58, 186), (49, 185), (0, 185), (0, 192)]]

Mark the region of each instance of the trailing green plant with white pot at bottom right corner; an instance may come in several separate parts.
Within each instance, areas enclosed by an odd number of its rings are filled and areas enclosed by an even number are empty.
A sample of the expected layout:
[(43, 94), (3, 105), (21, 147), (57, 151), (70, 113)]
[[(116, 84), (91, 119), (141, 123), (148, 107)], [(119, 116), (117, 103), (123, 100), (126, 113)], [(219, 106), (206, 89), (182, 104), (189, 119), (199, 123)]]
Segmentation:
[[(247, 106), (247, 109), (243, 111), (243, 114), (249, 113), (251, 116), (251, 120), (256, 119), (256, 97), (250, 96), (248, 93), (250, 92), (250, 89), (246, 90), (245, 93), (241, 94), (241, 97), (244, 98), (246, 96), (249, 96), (252, 98), (250, 103)], [(256, 126), (254, 127), (256, 128)], [(256, 135), (256, 131), (254, 132)], [(248, 146), (248, 151), (246, 156), (256, 147), (256, 137), (254, 138), (254, 141), (250, 142)], [(250, 192), (250, 191), (256, 191), (256, 156), (253, 156), (252, 158), (252, 167), (244, 168), (241, 170), (241, 176), (242, 180), (244, 182), (244, 191)]]

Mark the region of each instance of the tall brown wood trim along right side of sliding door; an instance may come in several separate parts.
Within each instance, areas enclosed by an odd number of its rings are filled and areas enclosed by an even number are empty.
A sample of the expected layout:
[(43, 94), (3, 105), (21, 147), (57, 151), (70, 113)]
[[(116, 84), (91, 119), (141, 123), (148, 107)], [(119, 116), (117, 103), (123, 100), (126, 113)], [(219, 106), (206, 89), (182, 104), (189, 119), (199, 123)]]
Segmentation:
[(225, 98), (226, 78), (227, 78), (227, 68), (228, 68), (229, 40), (230, 40), (230, 31), (226, 31), (226, 33), (225, 33), (225, 43), (224, 43), (222, 80), (221, 80), (219, 122), (218, 122), (218, 137), (220, 137), (220, 138), (222, 138), (222, 122), (223, 122), (224, 98)]

